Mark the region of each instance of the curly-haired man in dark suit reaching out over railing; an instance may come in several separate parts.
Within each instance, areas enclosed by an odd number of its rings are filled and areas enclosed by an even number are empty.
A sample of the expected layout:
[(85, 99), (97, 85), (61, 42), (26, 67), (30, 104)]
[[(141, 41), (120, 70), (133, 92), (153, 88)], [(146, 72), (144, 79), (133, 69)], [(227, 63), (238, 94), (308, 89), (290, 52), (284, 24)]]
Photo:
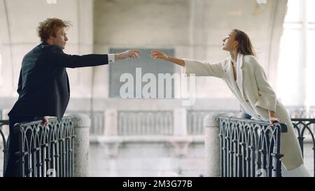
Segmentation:
[(18, 83), (19, 98), (8, 113), (10, 122), (9, 159), (4, 176), (17, 176), (18, 134), (13, 126), (18, 122), (43, 120), (45, 116), (57, 116), (62, 120), (69, 102), (70, 88), (66, 67), (78, 68), (99, 66), (118, 59), (139, 58), (139, 50), (127, 50), (109, 55), (66, 55), (65, 30), (69, 23), (57, 18), (48, 18), (38, 25), (41, 44), (27, 53), (22, 60)]

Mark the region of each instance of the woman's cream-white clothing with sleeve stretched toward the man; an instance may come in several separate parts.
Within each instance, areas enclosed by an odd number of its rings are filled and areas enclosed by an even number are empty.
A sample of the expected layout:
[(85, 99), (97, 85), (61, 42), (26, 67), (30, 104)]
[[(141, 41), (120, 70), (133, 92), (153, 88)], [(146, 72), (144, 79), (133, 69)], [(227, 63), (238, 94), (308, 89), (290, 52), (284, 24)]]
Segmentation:
[(275, 117), (286, 123), (288, 132), (281, 134), (282, 163), (287, 170), (295, 169), (302, 163), (302, 152), (294, 133), (290, 116), (286, 108), (276, 99), (276, 94), (267, 82), (265, 71), (252, 55), (237, 55), (237, 80), (234, 78), (230, 57), (223, 61), (210, 64), (193, 59), (184, 59), (183, 73), (195, 73), (195, 76), (214, 76), (221, 78), (230, 87), (240, 102), (241, 110), (256, 120), (269, 121), (269, 112), (274, 111)]

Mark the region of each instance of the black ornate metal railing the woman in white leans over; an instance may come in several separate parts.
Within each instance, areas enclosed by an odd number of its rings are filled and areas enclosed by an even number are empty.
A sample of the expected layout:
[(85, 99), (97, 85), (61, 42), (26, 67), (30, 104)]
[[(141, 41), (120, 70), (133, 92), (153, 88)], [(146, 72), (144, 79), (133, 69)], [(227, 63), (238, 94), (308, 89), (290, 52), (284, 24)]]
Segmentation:
[(219, 117), (221, 176), (281, 176), (280, 134), (286, 125)]

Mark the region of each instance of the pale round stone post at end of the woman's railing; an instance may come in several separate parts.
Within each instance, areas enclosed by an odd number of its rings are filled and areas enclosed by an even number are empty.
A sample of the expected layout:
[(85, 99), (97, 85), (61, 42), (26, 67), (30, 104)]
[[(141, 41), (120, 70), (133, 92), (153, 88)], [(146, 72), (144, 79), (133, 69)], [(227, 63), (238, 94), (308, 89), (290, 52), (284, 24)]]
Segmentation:
[(204, 118), (204, 145), (206, 150), (206, 176), (221, 176), (220, 169), (220, 125), (218, 116), (222, 113), (211, 113)]

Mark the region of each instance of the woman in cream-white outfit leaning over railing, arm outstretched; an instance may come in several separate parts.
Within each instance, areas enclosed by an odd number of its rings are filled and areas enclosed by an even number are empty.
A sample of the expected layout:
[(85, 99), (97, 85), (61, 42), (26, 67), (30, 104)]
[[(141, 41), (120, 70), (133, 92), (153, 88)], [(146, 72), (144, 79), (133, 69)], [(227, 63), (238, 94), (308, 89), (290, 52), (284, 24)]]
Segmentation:
[(280, 120), (286, 123), (288, 132), (281, 134), (281, 153), (284, 155), (281, 161), (286, 168), (283, 176), (309, 176), (290, 116), (276, 99), (262, 66), (255, 59), (251, 40), (243, 31), (233, 29), (223, 39), (222, 45), (223, 50), (230, 52), (230, 57), (216, 64), (169, 57), (160, 51), (152, 51), (151, 57), (179, 64), (187, 74), (222, 78), (239, 100), (242, 111), (256, 120), (269, 120), (271, 124)]

